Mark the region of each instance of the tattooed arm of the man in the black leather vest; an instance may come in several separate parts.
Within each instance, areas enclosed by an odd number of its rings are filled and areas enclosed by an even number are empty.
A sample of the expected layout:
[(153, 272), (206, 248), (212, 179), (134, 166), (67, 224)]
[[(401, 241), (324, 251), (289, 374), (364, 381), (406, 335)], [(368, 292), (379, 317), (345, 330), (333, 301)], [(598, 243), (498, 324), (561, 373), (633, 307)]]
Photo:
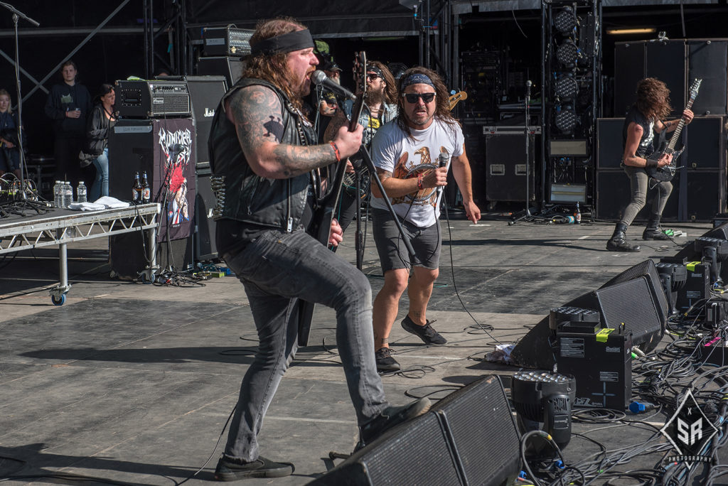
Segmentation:
[(281, 143), (283, 107), (269, 88), (253, 85), (238, 89), (227, 108), (245, 159), (261, 177), (287, 179), (336, 162), (329, 143), (317, 146)]

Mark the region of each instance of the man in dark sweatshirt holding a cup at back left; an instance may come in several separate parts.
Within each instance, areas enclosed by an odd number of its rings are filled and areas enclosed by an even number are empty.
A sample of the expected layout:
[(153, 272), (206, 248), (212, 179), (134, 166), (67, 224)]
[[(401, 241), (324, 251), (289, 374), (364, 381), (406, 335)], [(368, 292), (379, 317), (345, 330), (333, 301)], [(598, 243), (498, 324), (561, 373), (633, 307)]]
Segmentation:
[(60, 69), (63, 83), (54, 84), (46, 100), (46, 115), (53, 120), (53, 156), (56, 180), (69, 180), (71, 185), (81, 179), (79, 153), (86, 142), (86, 120), (91, 113), (91, 95), (83, 84), (76, 82), (78, 70), (72, 60)]

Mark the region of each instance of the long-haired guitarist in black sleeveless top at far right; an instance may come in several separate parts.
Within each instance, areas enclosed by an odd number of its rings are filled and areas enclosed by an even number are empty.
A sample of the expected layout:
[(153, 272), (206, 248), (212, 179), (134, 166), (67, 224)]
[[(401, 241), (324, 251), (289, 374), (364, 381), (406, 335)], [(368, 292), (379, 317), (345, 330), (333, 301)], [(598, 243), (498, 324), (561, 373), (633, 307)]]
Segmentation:
[[(646, 169), (649, 167), (664, 167), (672, 161), (673, 156), (665, 154), (657, 161), (647, 159), (652, 152), (654, 135), (663, 130), (673, 132), (678, 127), (679, 119), (670, 122), (661, 122), (668, 116), (670, 108), (670, 89), (665, 83), (654, 78), (645, 78), (637, 85), (637, 102), (632, 106), (625, 117), (622, 127), (622, 167), (630, 178), (630, 203), (622, 211), (622, 219), (614, 228), (612, 238), (606, 242), (606, 249), (617, 252), (638, 252), (638, 245), (625, 242), (625, 231), (630, 226), (637, 213), (644, 207), (647, 191), (657, 188), (657, 197), (652, 204), (649, 223), (642, 234), (642, 239), (670, 239), (660, 228), (660, 218), (665, 204), (668, 202), (673, 185), (669, 181), (657, 182), (651, 180)], [(686, 124), (692, 121), (693, 113), (689, 109), (683, 111), (682, 118)], [(652, 165), (651, 165), (652, 164)]]

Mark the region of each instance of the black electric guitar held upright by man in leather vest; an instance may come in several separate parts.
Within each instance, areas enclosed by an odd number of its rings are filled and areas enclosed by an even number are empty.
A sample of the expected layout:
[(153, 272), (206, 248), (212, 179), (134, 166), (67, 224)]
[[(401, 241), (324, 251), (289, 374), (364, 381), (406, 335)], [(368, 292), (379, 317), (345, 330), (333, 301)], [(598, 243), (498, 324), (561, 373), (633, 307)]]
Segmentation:
[[(349, 116), (349, 132), (356, 130), (359, 124), (359, 116), (364, 108), (366, 97), (366, 54), (364, 51), (357, 52), (354, 71), (355, 77), (362, 88), (357, 94), (357, 99), (352, 106), (352, 113)], [(339, 108), (341, 109), (341, 107)], [(344, 181), (346, 169), (347, 161), (343, 159), (341, 162), (326, 167), (323, 170), (325, 175), (322, 175), (318, 170), (312, 172), (315, 204), (309, 233), (326, 246), (328, 246), (328, 236), (331, 232), (334, 208), (341, 196), (341, 183)], [(314, 303), (298, 300), (298, 346), (306, 346), (309, 342), (313, 314)]]

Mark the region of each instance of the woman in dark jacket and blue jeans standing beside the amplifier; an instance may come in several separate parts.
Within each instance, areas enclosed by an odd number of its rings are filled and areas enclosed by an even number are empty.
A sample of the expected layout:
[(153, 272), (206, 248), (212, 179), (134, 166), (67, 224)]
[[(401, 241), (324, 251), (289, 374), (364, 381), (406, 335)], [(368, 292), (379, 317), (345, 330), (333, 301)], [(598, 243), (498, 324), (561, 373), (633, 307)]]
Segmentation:
[(108, 134), (116, 124), (114, 87), (111, 84), (102, 84), (97, 97), (98, 103), (94, 105), (86, 127), (87, 145), (84, 150), (95, 156), (92, 164), (96, 167), (96, 178), (89, 190), (91, 202), (101, 196), (108, 196)]

